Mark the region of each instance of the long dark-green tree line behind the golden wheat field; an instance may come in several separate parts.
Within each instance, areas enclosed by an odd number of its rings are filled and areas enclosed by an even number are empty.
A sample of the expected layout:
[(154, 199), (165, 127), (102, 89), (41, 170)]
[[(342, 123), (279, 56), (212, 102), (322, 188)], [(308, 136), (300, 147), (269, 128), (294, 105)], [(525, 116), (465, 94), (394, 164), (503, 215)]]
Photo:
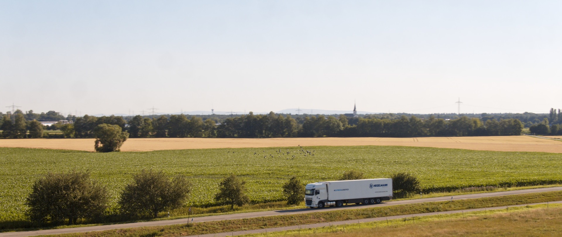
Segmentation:
[[(16, 114), (14, 122), (3, 117), (0, 129), (4, 138), (40, 138), (43, 126), (37, 120), (26, 121)], [(350, 124), (353, 122), (353, 125)], [(131, 138), (278, 138), (278, 137), (323, 137), (323, 136), (507, 136), (520, 135), (523, 123), (515, 118), (482, 121), (479, 118), (460, 118), (448, 120), (430, 116), (423, 119), (415, 116), (399, 118), (379, 118), (365, 116), (349, 118), (344, 115), (307, 116), (299, 123), (291, 115), (248, 115), (226, 118), (221, 123), (201, 117), (185, 115), (164, 115), (147, 118), (140, 115), (125, 121), (122, 116), (77, 117), (74, 124), (58, 124), (58, 129), (66, 138), (93, 138), (98, 125), (117, 125), (129, 133)], [(541, 122), (544, 124), (544, 122)], [(53, 125), (54, 126), (54, 125)], [(549, 127), (549, 133), (556, 131), (558, 125)], [(29, 134), (26, 135), (26, 132)], [(61, 135), (62, 135), (61, 134)], [(541, 134), (541, 133), (537, 133)]]

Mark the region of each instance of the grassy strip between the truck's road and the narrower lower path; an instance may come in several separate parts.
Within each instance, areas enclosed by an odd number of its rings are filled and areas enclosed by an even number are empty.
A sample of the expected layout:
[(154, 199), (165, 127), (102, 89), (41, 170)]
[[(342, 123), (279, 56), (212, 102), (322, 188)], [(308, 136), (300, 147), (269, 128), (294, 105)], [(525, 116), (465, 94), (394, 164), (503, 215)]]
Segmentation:
[(263, 229), (269, 227), (306, 225), (320, 222), (358, 220), (362, 218), (396, 215), (411, 215), (415, 213), (442, 212), (484, 207), (504, 207), (527, 203), (554, 202), (557, 200), (562, 200), (562, 192), (508, 195), (503, 197), (455, 200), (453, 202), (430, 202), (364, 209), (339, 209), (337, 211), (327, 212), (256, 217), (226, 221), (211, 221), (187, 225), (184, 224), (95, 231), (89, 233), (63, 234), (60, 236), (184, 236), (214, 234), (240, 230)]

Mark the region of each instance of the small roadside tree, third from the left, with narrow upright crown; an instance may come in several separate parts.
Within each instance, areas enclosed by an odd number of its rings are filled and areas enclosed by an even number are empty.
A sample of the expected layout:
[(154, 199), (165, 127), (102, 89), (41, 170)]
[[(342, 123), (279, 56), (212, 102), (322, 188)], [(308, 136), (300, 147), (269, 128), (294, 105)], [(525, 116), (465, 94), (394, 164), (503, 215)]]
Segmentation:
[(234, 205), (241, 207), (243, 204), (250, 202), (245, 193), (246, 181), (230, 174), (220, 182), (219, 193), (215, 194), (215, 200), (230, 204), (230, 209), (234, 210)]

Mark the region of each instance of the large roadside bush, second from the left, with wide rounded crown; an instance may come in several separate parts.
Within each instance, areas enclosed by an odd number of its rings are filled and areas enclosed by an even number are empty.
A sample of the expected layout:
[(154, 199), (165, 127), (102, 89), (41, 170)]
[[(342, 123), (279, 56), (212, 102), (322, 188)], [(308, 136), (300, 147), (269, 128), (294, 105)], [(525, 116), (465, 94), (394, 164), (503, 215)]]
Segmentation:
[(184, 176), (170, 176), (162, 171), (142, 170), (127, 184), (119, 205), (126, 215), (158, 217), (158, 212), (181, 207), (191, 185)]

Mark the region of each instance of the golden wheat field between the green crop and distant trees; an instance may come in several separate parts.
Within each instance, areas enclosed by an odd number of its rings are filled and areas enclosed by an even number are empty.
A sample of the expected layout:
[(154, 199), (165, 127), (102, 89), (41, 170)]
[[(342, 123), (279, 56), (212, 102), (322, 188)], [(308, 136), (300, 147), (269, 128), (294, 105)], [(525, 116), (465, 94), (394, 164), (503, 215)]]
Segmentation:
[[(532, 136), (462, 136), (424, 138), (129, 138), (121, 151), (202, 148), (296, 147), (319, 145), (401, 145), (478, 151), (562, 153), (562, 141)], [(0, 147), (94, 151), (94, 139), (2, 139)]]

